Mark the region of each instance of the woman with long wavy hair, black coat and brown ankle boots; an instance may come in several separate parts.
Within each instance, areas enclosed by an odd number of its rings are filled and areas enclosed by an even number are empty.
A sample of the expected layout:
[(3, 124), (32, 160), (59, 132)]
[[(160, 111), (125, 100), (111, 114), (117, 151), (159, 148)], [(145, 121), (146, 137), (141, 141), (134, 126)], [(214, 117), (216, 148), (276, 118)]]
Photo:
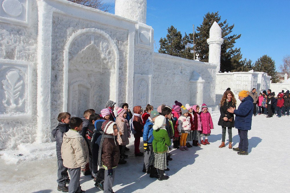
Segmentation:
[(230, 90), (224, 92), (222, 100), (220, 100), (220, 119), (218, 121), (218, 125), (222, 126), (222, 144), (219, 148), (226, 147), (224, 144), (226, 139), (226, 128), (228, 128), (229, 134), (229, 149), (232, 148), (232, 128), (235, 126), (235, 118), (233, 113), (228, 112), (228, 108), (235, 108), (236, 105), (237, 101), (233, 92)]

